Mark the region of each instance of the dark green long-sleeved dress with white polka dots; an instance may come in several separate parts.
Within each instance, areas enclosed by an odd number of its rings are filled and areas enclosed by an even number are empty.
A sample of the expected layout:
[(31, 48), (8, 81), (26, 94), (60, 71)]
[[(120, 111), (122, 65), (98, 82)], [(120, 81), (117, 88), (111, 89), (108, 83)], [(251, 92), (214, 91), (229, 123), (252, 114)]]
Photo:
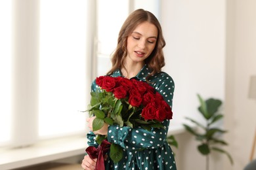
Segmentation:
[[(146, 76), (150, 74), (147, 65), (141, 69), (140, 73), (134, 78), (146, 81)], [(122, 76), (119, 70), (111, 76)], [(153, 86), (157, 92), (163, 95), (165, 101), (172, 106), (174, 82), (167, 73), (160, 72), (150, 77), (150, 86)], [(92, 91), (98, 86), (93, 82)], [(108, 159), (105, 161), (105, 169), (177, 169), (171, 147), (167, 143), (167, 131), (169, 129), (169, 120), (162, 122), (163, 128), (152, 128), (147, 131), (142, 127), (119, 127), (117, 125), (108, 127), (108, 141), (119, 144), (123, 148), (123, 159), (114, 163)], [(95, 142), (95, 134), (87, 134), (89, 146), (98, 145)]]

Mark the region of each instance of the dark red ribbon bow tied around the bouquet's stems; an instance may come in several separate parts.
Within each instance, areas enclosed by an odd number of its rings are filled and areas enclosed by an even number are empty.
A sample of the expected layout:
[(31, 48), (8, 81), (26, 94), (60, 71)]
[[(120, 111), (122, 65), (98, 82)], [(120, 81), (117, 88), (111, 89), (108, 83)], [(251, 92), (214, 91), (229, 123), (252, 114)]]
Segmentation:
[(87, 154), (90, 156), (90, 158), (93, 160), (95, 158), (98, 158), (96, 162), (96, 169), (95, 170), (102, 170), (105, 169), (104, 165), (104, 155), (108, 150), (110, 149), (110, 144), (108, 141), (104, 140), (100, 145), (98, 145), (98, 148), (95, 148), (95, 146), (89, 146), (86, 148)]

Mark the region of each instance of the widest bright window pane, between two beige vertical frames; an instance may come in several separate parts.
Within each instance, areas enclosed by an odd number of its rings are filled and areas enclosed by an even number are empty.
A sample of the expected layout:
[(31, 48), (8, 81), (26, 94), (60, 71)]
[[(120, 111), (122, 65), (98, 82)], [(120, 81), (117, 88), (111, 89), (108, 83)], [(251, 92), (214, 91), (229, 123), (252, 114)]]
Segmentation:
[(83, 0), (40, 3), (40, 137), (85, 130), (85, 114), (79, 110), (88, 103), (86, 5)]

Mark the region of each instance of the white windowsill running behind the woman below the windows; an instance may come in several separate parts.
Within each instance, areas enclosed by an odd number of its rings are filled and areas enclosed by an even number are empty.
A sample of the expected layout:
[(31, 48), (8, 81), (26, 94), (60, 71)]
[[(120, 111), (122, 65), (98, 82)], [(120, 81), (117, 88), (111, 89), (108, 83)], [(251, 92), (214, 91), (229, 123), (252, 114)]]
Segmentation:
[[(167, 135), (177, 135), (184, 131), (182, 124), (172, 124)], [(26, 148), (0, 150), (0, 169), (26, 167), (77, 156), (84, 154), (86, 147), (87, 139), (83, 136), (42, 141)]]

